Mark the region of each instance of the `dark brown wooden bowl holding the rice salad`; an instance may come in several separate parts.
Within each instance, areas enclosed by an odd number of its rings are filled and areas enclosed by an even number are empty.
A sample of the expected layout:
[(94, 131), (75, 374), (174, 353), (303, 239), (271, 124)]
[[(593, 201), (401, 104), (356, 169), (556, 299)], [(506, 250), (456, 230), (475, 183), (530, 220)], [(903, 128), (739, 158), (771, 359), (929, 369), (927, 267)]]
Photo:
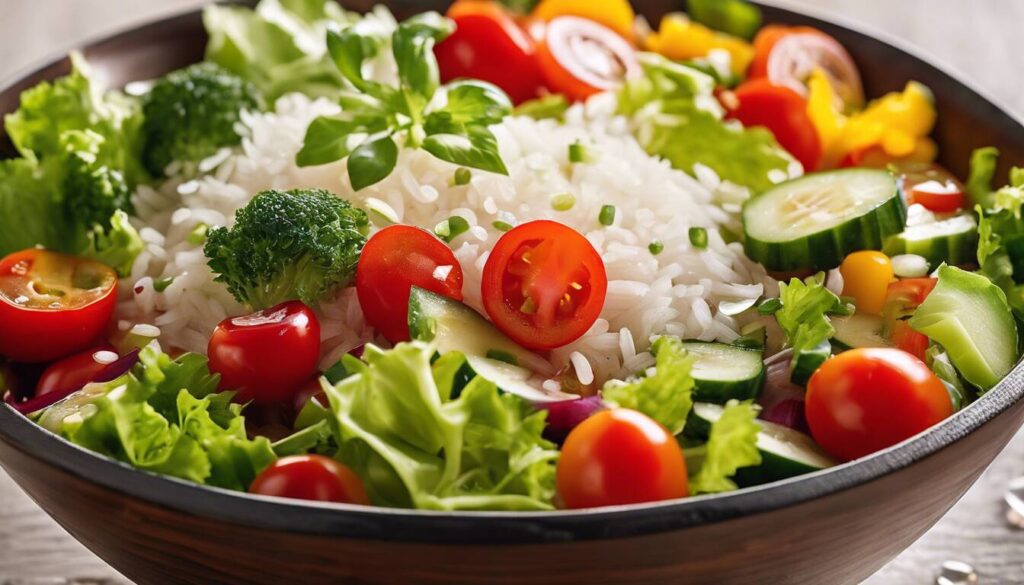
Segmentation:
[[(651, 22), (669, 0), (640, 2)], [(399, 13), (425, 6), (392, 2)], [(916, 79), (935, 91), (935, 138), (959, 175), (974, 148), (1024, 160), (1024, 127), (992, 100), (891, 43), (765, 8), (767, 22), (836, 36), (869, 95)], [(84, 48), (112, 84), (202, 57), (198, 12)], [(6, 84), (67, 73), (57, 59)], [(3, 138), (0, 149), (11, 154)], [(1005, 173), (1005, 168), (1002, 169)], [(253, 497), (136, 471), (0, 407), (0, 463), (71, 534), (138, 583), (660, 584), (855, 583), (931, 527), (1024, 419), (1024, 367), (928, 431), (837, 468), (741, 492), (551, 513), (438, 513)]]

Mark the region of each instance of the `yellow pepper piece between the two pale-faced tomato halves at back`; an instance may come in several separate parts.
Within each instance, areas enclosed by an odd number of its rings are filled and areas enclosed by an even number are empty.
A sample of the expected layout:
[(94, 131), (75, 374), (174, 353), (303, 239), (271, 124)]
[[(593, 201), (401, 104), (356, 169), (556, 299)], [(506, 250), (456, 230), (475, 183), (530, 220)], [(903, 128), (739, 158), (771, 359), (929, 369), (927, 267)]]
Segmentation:
[(742, 75), (754, 60), (754, 47), (746, 41), (717, 33), (683, 14), (667, 14), (662, 18), (657, 32), (647, 37), (646, 45), (648, 50), (675, 60), (705, 57), (712, 49), (724, 49), (732, 57), (735, 75)]

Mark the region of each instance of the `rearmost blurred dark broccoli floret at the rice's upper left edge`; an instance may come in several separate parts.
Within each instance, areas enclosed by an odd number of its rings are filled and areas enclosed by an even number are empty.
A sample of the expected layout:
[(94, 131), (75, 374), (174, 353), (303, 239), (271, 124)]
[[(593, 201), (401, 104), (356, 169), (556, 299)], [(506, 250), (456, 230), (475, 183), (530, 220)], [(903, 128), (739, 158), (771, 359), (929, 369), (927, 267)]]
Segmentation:
[(234, 125), (243, 110), (260, 110), (256, 86), (211, 62), (168, 74), (142, 107), (142, 164), (164, 176), (173, 161), (199, 162), (242, 141)]

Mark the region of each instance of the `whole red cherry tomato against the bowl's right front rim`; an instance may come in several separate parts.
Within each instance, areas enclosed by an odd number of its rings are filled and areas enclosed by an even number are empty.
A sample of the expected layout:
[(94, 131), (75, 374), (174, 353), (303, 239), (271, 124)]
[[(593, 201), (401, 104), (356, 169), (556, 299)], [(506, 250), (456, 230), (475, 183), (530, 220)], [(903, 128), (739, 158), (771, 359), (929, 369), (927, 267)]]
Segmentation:
[(913, 436), (953, 413), (945, 385), (901, 349), (862, 347), (826, 361), (807, 385), (811, 435), (849, 461)]

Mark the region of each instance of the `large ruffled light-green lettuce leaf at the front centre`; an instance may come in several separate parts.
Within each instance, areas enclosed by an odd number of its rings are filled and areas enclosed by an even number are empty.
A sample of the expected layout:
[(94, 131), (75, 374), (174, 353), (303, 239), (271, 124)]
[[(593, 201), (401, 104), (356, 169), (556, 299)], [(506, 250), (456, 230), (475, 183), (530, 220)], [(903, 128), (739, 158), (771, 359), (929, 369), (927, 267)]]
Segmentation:
[[(482, 378), (453, 395), (465, 361), (431, 365), (432, 346), (367, 345), (362, 365), (326, 388), (339, 458), (377, 505), (437, 510), (552, 509), (558, 451), (544, 413)], [(466, 480), (472, 478), (472, 480)]]

